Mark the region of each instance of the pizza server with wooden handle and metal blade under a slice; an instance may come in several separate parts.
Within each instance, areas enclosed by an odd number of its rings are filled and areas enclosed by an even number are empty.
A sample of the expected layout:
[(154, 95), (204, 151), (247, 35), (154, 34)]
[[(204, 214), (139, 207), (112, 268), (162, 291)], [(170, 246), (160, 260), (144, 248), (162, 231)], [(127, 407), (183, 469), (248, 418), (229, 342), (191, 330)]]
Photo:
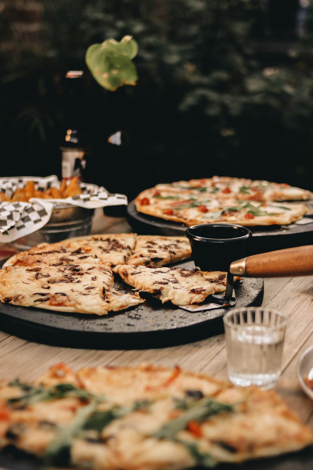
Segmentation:
[(197, 305), (179, 305), (189, 312), (200, 312), (214, 308), (236, 305), (234, 276), (240, 277), (286, 277), (313, 274), (313, 245), (285, 248), (247, 256), (233, 261), (229, 266), (226, 290), (213, 294)]

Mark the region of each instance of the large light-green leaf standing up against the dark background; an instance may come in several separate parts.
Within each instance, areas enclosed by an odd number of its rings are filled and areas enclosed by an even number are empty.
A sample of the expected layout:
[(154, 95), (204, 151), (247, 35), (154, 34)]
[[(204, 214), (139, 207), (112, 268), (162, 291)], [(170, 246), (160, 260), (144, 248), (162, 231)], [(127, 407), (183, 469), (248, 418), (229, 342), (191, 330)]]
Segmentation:
[(88, 47), (85, 61), (99, 85), (115, 91), (123, 85), (136, 85), (138, 76), (131, 60), (137, 52), (135, 39), (124, 36), (120, 42), (107, 39), (102, 44)]

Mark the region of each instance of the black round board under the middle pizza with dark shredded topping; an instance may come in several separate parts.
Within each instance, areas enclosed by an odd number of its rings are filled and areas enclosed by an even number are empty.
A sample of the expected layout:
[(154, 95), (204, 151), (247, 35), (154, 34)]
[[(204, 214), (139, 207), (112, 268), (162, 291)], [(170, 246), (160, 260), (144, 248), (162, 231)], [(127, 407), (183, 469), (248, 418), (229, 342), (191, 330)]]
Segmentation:
[[(195, 267), (193, 261), (175, 266)], [(119, 276), (115, 276), (115, 288), (131, 290)], [(242, 278), (235, 292), (237, 307), (261, 305), (263, 279)], [(191, 313), (171, 302), (162, 304), (149, 294), (146, 299), (143, 304), (103, 316), (0, 304), (0, 328), (37, 343), (83, 349), (160, 348), (191, 343), (224, 331), (225, 308)]]

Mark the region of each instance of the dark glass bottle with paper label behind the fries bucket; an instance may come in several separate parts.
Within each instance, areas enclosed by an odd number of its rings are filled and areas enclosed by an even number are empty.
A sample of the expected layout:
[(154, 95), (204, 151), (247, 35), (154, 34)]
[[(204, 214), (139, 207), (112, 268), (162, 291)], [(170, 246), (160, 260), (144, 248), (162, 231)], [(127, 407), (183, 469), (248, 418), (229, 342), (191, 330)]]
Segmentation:
[(92, 182), (91, 144), (84, 103), (84, 72), (68, 71), (65, 76), (61, 176)]

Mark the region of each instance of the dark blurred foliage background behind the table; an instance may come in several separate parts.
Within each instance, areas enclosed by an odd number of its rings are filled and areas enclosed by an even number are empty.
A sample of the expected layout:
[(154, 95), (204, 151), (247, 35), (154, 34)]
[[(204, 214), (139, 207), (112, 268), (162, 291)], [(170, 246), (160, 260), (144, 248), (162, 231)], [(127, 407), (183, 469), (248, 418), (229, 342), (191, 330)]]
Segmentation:
[[(214, 174), (313, 190), (310, 0), (2, 0), (1, 176), (60, 175), (64, 74), (85, 71), (95, 183), (132, 199)], [(130, 34), (122, 88), (131, 157), (106, 142), (106, 91), (87, 47)], [(110, 93), (110, 92), (109, 92)]]

